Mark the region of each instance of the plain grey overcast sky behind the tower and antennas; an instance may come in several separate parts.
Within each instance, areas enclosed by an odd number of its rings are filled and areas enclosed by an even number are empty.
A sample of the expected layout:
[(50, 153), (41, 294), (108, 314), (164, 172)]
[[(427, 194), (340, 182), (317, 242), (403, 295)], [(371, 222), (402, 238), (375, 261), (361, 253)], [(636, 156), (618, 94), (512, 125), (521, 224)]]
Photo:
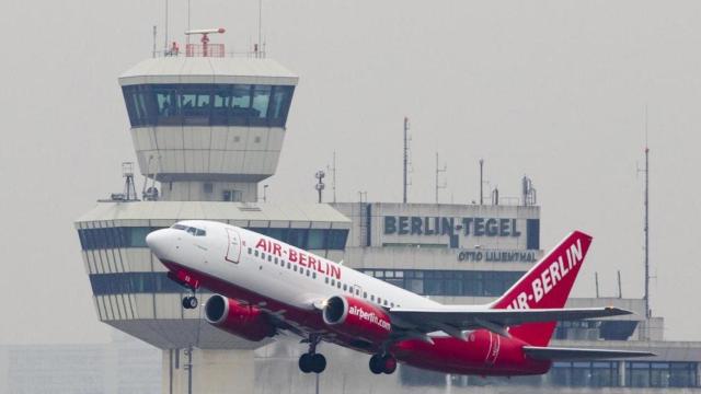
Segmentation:
[[(193, 0), (193, 27), (257, 35), (257, 1)], [(122, 188), (134, 160), (117, 76), (150, 56), (163, 1), (5, 1), (0, 5), (1, 343), (101, 341), (72, 221)], [(186, 1), (171, 1), (183, 42)], [(338, 197), (401, 198), (401, 128), (411, 118), (412, 201), (476, 198), (478, 160), (503, 196), (528, 174), (541, 245), (578, 228), (595, 243), (575, 296), (642, 296), (644, 108), (652, 148), (652, 302), (671, 339), (701, 340), (701, 2), (272, 1), (268, 57), (300, 76), (269, 197), (312, 201), (313, 173), (338, 159)], [(159, 35), (159, 46), (162, 46)], [(141, 179), (139, 179), (139, 183)]]

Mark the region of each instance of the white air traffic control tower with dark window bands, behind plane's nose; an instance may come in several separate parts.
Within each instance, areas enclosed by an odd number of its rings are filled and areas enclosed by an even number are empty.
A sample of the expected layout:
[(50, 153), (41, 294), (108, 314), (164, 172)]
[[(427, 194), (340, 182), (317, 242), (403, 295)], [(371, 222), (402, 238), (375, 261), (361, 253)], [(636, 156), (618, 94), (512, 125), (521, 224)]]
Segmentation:
[[(82, 257), (99, 318), (163, 349), (163, 393), (253, 392), (250, 343), (184, 310), (187, 290), (166, 278), (146, 235), (185, 219), (228, 222), (340, 259), (350, 221), (333, 208), (258, 202), (277, 167), (298, 78), (261, 54), (227, 56), (223, 45), (173, 47), (119, 77), (138, 166), (124, 194), (79, 218)], [(125, 136), (126, 138), (126, 136)], [(202, 293), (203, 305), (210, 294)]]

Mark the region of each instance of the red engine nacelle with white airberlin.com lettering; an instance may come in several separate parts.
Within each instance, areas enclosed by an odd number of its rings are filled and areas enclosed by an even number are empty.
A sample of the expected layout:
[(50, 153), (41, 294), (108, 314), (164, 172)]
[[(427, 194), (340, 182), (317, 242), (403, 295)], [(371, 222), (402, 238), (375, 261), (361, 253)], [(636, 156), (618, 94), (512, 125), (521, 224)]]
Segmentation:
[(323, 318), (331, 329), (370, 343), (382, 341), (392, 332), (387, 311), (353, 297), (330, 298), (323, 309)]

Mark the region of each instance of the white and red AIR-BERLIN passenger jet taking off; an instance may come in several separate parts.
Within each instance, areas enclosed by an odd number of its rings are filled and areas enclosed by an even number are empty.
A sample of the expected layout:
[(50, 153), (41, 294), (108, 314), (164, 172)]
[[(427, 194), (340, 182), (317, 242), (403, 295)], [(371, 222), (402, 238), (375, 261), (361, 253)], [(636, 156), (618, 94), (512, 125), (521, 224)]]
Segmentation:
[(371, 355), (369, 369), (398, 362), (445, 373), (531, 375), (554, 361), (655, 356), (645, 351), (549, 347), (558, 321), (608, 317), (618, 308), (563, 309), (591, 236), (574, 231), (496, 301), (446, 305), (266, 235), (221, 222), (181, 221), (146, 242), (172, 280), (214, 326), (248, 340), (299, 335), (304, 373), (321, 373), (322, 341)]

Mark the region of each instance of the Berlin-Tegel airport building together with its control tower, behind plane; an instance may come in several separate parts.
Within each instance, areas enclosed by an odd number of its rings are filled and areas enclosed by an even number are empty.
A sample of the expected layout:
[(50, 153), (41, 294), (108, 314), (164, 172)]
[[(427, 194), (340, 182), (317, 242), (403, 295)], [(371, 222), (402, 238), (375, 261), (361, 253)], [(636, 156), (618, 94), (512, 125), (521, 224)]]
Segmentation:
[[(76, 221), (99, 318), (161, 349), (154, 368), (162, 393), (298, 393), (317, 384), (334, 393), (701, 387), (701, 344), (665, 341), (662, 318), (645, 318), (637, 299), (572, 299), (570, 306), (614, 305), (636, 314), (562, 322), (552, 344), (657, 357), (556, 363), (544, 376), (510, 380), (404, 366), (375, 376), (368, 356), (327, 344), (321, 345), (326, 371), (302, 374), (301, 338), (251, 343), (209, 326), (202, 309), (184, 310), (188, 291), (168, 279), (145, 237), (185, 219), (265, 233), (452, 304), (493, 300), (551, 246), (541, 245), (540, 208), (526, 198), (515, 205), (265, 201), (260, 182), (275, 174), (298, 77), (271, 59), (227, 57), (222, 46), (209, 46), (147, 59), (119, 77), (138, 167), (151, 186), (136, 196), (134, 171), (126, 167), (125, 193)], [(199, 294), (200, 305), (209, 296)]]

